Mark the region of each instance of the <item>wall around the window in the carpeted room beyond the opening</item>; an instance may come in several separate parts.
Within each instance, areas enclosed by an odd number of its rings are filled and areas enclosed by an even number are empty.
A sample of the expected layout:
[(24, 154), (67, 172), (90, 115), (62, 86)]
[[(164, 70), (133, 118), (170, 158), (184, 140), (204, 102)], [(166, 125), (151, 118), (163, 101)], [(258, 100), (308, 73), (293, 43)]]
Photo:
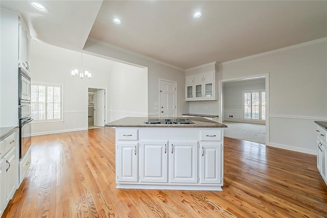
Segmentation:
[[(223, 86), (222, 120), (244, 122), (243, 91), (265, 90), (265, 79), (235, 81), (235, 82), (224, 83), (223, 85), (224, 86)], [(228, 115), (231, 115), (233, 117), (229, 118)], [(245, 121), (245, 122), (252, 122), (252, 121)]]

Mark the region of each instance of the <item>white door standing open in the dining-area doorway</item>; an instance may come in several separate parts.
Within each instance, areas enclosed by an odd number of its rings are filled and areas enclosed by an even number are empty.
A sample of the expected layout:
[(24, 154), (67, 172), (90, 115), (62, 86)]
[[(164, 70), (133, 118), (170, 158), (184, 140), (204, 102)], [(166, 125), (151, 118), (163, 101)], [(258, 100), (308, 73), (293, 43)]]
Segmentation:
[(105, 90), (94, 92), (94, 126), (105, 124)]

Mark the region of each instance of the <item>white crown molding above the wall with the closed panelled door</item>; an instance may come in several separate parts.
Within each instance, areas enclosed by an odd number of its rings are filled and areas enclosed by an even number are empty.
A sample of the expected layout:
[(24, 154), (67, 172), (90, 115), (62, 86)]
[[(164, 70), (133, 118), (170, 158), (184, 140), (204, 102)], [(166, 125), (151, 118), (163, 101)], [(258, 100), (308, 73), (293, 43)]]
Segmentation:
[(179, 67), (176, 67), (172, 64), (169, 64), (169, 63), (165, 63), (165, 62), (162, 62), (160, 60), (157, 60), (157, 59), (154, 59), (152, 57), (148, 57), (148, 56), (145, 56), (145, 55), (142, 55), (142, 54), (139, 54), (137, 52), (133, 52), (133, 51), (130, 51), (128, 49), (124, 49), (122, 47), (119, 47), (119, 46), (115, 46), (111, 43), (108, 43), (108, 42), (105, 42), (105, 41), (102, 41), (102, 40), (99, 40), (99, 39), (96, 39), (96, 38), (93, 38), (93, 37), (88, 37), (87, 38), (88, 41), (92, 41), (92, 42), (95, 42), (95, 43), (98, 43), (99, 45), (102, 45), (102, 46), (105, 46), (107, 48), (110, 48), (110, 49), (114, 49), (114, 50), (118, 50), (118, 51), (121, 51), (121, 52), (124, 52), (124, 53), (127, 53), (127, 54), (130, 54), (130, 55), (134, 55), (136, 57), (141, 57), (141, 58), (144, 58), (144, 59), (147, 59), (147, 60), (150, 60), (150, 61), (153, 61), (155, 63), (159, 63), (159, 64), (162, 64), (162, 65), (165, 65), (167, 67), (170, 67), (170, 68), (173, 68), (173, 69), (176, 69), (176, 70), (180, 70), (180, 71), (185, 71), (185, 69), (182, 69), (182, 68), (179, 68)]

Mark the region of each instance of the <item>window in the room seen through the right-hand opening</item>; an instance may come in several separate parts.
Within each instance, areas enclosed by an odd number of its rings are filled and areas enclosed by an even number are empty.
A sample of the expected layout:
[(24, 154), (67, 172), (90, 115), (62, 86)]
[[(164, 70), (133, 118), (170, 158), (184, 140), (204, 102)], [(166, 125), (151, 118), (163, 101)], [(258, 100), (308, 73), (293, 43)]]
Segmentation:
[(243, 104), (244, 119), (266, 120), (266, 92), (264, 90), (244, 91)]

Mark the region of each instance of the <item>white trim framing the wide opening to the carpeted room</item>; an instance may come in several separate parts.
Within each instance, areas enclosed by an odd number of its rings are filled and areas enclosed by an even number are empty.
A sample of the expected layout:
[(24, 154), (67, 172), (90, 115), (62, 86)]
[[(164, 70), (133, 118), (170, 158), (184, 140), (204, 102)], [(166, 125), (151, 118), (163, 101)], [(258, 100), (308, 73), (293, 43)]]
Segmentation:
[(256, 75), (250, 75), (250, 76), (245, 76), (245, 77), (238, 77), (238, 78), (230, 78), (230, 79), (222, 79), (219, 80), (219, 122), (222, 123), (223, 121), (223, 115), (224, 115), (224, 99), (223, 99), (223, 82), (227, 82), (227, 81), (240, 81), (242, 79), (248, 79), (248, 78), (252, 78), (252, 77), (261, 77), (264, 76), (265, 77), (265, 90), (266, 90), (266, 145), (270, 144), (270, 125), (269, 125), (269, 121), (270, 121), (270, 99), (269, 99), (269, 73), (264, 73), (264, 74), (256, 74)]

